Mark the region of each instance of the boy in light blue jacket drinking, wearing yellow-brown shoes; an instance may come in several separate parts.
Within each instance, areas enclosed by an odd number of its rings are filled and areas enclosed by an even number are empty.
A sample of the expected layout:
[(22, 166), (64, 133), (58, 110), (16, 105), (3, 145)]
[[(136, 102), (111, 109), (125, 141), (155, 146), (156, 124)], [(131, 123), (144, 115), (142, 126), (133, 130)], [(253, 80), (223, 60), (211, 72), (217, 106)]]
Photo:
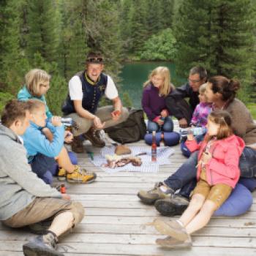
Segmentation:
[[(65, 179), (67, 175), (67, 181), (69, 182), (89, 183), (94, 181), (95, 173), (80, 169), (78, 165), (72, 165), (70, 162), (67, 149), (64, 148), (64, 127), (61, 124), (61, 117), (53, 116), (51, 118), (52, 125), (48, 126), (45, 103), (37, 99), (30, 99), (28, 103), (31, 125), (26, 129), (23, 141), (28, 153), (29, 164), (34, 173), (37, 173), (37, 176), (42, 178), (45, 183), (50, 184), (53, 177), (49, 177), (48, 170), (51, 170), (57, 161), (60, 167), (59, 179)], [(42, 133), (42, 127), (45, 127), (45, 125), (53, 134), (53, 140), (51, 141)], [(47, 173), (47, 176), (45, 176), (45, 173)]]

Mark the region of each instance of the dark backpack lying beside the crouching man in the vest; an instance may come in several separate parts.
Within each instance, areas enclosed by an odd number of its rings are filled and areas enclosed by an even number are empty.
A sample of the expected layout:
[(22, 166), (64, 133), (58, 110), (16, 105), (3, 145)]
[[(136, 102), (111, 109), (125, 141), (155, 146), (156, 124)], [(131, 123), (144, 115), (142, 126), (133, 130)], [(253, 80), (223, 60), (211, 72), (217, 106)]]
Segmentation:
[(129, 116), (126, 121), (106, 128), (105, 132), (112, 140), (121, 144), (142, 140), (146, 135), (143, 110), (129, 109)]

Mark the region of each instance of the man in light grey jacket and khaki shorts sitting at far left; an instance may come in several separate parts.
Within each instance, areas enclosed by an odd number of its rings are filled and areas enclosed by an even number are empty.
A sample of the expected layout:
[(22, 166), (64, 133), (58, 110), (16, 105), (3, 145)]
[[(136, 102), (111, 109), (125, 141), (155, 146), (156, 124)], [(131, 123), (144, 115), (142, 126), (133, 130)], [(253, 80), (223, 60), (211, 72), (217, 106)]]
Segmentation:
[(58, 237), (83, 219), (84, 210), (31, 171), (20, 139), (29, 127), (28, 109), (29, 103), (13, 99), (1, 116), (0, 220), (10, 227), (47, 221), (44, 235), (23, 245), (24, 255), (63, 255), (56, 250)]

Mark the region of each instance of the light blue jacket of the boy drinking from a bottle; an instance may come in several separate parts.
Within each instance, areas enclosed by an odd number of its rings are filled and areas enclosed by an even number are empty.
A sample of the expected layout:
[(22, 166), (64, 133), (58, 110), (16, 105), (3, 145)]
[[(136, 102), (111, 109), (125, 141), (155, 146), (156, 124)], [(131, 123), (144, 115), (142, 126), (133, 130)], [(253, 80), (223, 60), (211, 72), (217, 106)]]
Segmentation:
[(47, 124), (46, 127), (53, 132), (53, 141), (51, 142), (42, 134), (42, 127), (39, 127), (33, 122), (30, 122), (30, 127), (26, 129), (26, 132), (22, 136), (29, 162), (38, 153), (44, 154), (47, 157), (57, 157), (64, 145), (64, 126), (51, 129)]

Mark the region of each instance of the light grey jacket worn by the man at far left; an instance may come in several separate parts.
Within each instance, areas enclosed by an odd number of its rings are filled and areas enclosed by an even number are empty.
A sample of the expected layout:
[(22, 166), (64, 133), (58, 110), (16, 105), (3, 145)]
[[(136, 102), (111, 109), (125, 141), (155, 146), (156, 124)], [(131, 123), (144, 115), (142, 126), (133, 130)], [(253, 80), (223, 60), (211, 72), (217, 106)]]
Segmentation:
[(0, 124), (0, 220), (9, 219), (36, 197), (61, 194), (37, 178), (18, 136)]

